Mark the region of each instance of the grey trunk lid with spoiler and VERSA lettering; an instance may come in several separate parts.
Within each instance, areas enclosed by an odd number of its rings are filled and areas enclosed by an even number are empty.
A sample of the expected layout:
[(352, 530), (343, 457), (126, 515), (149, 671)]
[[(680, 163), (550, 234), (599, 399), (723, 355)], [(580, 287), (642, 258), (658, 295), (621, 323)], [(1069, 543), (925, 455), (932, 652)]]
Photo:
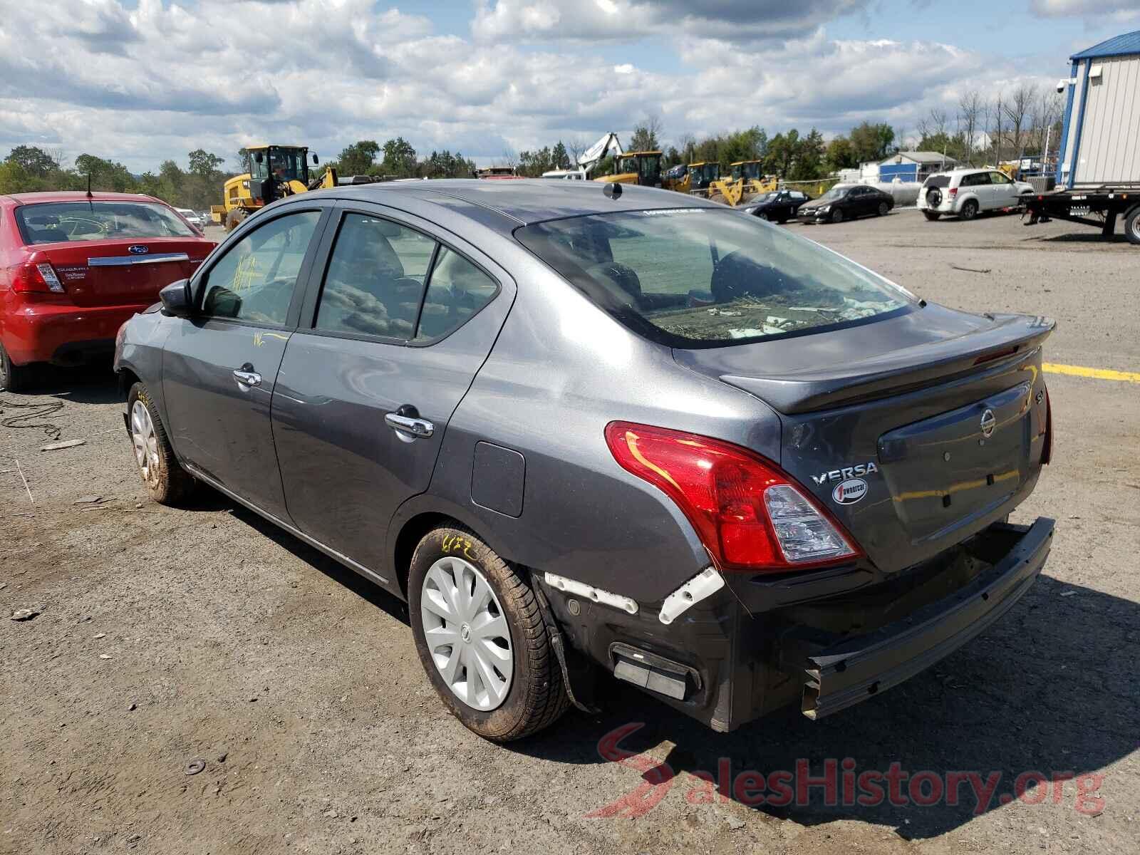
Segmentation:
[(921, 309), (829, 333), (674, 351), (780, 413), (780, 465), (885, 572), (1004, 516), (1041, 470), (1044, 318)]

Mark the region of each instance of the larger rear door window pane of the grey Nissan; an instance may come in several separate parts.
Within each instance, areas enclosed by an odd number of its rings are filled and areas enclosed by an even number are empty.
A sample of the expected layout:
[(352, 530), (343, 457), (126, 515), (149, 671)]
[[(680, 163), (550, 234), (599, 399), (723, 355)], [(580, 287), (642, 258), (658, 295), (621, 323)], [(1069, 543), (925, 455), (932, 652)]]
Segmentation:
[(325, 274), (317, 328), (410, 339), (435, 242), (391, 220), (345, 214)]

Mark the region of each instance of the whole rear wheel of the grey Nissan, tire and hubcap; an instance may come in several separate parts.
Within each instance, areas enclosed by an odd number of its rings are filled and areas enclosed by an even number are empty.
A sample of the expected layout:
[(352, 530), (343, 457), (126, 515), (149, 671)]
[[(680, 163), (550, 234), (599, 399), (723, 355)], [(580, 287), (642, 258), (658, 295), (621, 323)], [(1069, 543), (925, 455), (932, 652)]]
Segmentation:
[(408, 573), (416, 652), (448, 710), (495, 742), (528, 736), (569, 697), (535, 593), (467, 529), (420, 542)]

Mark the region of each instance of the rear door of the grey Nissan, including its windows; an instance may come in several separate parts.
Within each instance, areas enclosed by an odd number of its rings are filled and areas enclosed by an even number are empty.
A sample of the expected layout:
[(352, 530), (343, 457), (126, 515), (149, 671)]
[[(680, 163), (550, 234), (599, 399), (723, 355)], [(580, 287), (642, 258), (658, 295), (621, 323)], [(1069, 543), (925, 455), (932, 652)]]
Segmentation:
[(298, 528), (375, 569), (396, 510), (427, 489), (514, 285), (430, 222), (344, 205), (326, 235), (323, 275), (312, 277), (307, 328), (285, 349), (274, 437)]

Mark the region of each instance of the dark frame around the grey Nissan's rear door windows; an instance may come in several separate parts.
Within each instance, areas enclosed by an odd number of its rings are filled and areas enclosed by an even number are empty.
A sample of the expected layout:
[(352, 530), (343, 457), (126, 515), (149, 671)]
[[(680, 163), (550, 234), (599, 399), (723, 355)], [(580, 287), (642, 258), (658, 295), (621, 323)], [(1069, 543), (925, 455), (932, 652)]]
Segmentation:
[[(320, 307), (320, 296), (325, 290), (325, 276), (328, 271), (328, 264), (332, 261), (333, 246), (335, 245), (336, 235), (340, 231), (340, 227), (344, 221), (344, 218), (349, 214), (363, 214), (365, 217), (375, 217), (382, 220), (389, 220), (394, 222), (401, 228), (410, 229), (413, 231), (418, 231), (424, 237), (427, 237), (435, 242), (435, 249), (432, 251), (431, 260), (427, 263), (427, 270), (424, 274), (424, 288), (420, 296), (420, 308), (416, 311), (416, 323), (412, 329), (412, 336), (408, 339), (393, 339), (382, 335), (373, 335), (368, 333), (342, 333), (335, 329), (318, 329), (317, 328), (317, 311)], [(406, 212), (399, 211), (398, 209), (389, 207), (388, 205), (368, 205), (360, 204), (359, 202), (349, 202), (340, 199), (336, 202), (335, 209), (329, 217), (324, 234), (320, 239), (320, 253), (315, 259), (310, 275), (309, 284), (306, 288), (304, 300), (300, 306), (300, 318), (298, 321), (298, 331), (309, 334), (309, 335), (324, 335), (332, 339), (350, 339), (353, 341), (372, 341), (381, 344), (394, 344), (397, 347), (407, 348), (430, 348), (434, 344), (439, 344), (446, 341), (450, 335), (462, 329), (477, 315), (479, 315), (483, 309), (490, 306), (492, 302), (502, 296), (505, 291), (503, 286), (504, 276), (498, 272), (492, 272), (487, 264), (472, 258), (472, 254), (466, 250), (457, 245), (454, 239), (448, 239), (440, 236), (440, 231), (443, 229), (431, 228), (430, 225), (421, 225), (424, 222), (420, 217), (415, 214), (407, 214), (407, 217), (401, 217)], [(415, 221), (412, 221), (415, 220)], [(449, 233), (448, 233), (449, 234)], [(459, 238), (462, 241), (462, 238)], [(438, 339), (427, 339), (422, 341), (416, 341), (415, 336), (420, 332), (420, 318), (423, 314), (424, 302), (427, 300), (427, 290), (431, 287), (431, 278), (435, 272), (435, 264), (439, 261), (440, 253), (443, 249), (454, 252), (464, 260), (469, 261), (477, 269), (481, 270), (486, 276), (495, 283), (495, 294), (483, 303), (477, 311), (474, 311), (471, 317), (463, 321), (455, 329), (451, 329), (447, 335), (440, 336)]]

